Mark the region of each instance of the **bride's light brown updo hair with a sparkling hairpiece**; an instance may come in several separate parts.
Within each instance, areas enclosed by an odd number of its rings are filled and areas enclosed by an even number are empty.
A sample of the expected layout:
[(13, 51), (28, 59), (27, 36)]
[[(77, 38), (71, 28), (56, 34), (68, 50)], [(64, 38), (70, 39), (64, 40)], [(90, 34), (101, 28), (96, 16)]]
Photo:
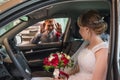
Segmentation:
[(77, 23), (79, 27), (82, 26), (92, 29), (97, 35), (107, 30), (107, 23), (104, 21), (104, 17), (101, 17), (95, 10), (90, 10), (78, 17)]

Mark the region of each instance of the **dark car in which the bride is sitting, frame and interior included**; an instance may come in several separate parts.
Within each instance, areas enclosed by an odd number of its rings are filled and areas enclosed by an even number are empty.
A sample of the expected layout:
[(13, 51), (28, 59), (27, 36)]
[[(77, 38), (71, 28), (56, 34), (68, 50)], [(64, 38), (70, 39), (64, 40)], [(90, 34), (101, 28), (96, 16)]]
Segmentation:
[[(12, 2), (13, 1), (13, 2)], [(15, 2), (14, 2), (15, 1)], [(7, 6), (5, 6), (7, 5)], [(77, 17), (98, 10), (108, 23), (104, 36), (109, 41), (106, 80), (120, 80), (120, 1), (119, 0), (4, 0), (0, 2), (0, 80), (30, 80), (52, 77), (43, 59), (63, 51), (72, 56), (84, 42), (79, 34)], [(47, 19), (62, 26), (58, 42), (31, 44), (30, 40)]]

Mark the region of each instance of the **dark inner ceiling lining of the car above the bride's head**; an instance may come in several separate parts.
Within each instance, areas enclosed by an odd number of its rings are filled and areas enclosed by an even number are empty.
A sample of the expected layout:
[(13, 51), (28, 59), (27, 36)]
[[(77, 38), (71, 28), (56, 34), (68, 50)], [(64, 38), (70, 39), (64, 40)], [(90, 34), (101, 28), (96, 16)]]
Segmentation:
[(103, 15), (109, 15), (110, 6), (105, 1), (66, 1), (56, 4), (51, 4), (45, 8), (32, 12), (29, 17), (39, 19), (43, 17), (60, 17), (60, 16), (78, 16), (84, 11), (95, 9)]

